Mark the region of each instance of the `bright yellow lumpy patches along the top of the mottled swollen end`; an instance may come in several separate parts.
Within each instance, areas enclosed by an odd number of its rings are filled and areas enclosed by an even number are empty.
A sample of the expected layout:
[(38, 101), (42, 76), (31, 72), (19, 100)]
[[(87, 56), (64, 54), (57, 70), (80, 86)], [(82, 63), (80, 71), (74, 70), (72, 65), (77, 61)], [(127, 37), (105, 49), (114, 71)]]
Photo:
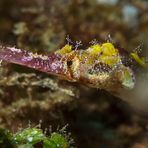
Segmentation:
[[(58, 50), (58, 54), (68, 54), (74, 52), (72, 46), (66, 44), (62, 49)], [(107, 64), (109, 66), (114, 66), (118, 64), (121, 60), (118, 50), (114, 47), (112, 43), (95, 44), (80, 52), (75, 51), (73, 54), (77, 55), (80, 61), (84, 61), (87, 64), (92, 64), (94, 61)], [(79, 55), (78, 55), (79, 54)]]

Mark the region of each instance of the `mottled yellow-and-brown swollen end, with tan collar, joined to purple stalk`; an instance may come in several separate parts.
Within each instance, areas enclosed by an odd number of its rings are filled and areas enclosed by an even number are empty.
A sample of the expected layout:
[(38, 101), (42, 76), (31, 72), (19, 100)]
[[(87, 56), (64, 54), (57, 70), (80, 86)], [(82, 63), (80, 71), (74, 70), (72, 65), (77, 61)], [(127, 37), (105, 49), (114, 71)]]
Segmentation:
[(66, 45), (56, 53), (65, 57), (70, 81), (109, 92), (132, 89), (135, 85), (132, 68), (112, 43), (95, 44), (86, 50), (72, 50), (71, 45)]

